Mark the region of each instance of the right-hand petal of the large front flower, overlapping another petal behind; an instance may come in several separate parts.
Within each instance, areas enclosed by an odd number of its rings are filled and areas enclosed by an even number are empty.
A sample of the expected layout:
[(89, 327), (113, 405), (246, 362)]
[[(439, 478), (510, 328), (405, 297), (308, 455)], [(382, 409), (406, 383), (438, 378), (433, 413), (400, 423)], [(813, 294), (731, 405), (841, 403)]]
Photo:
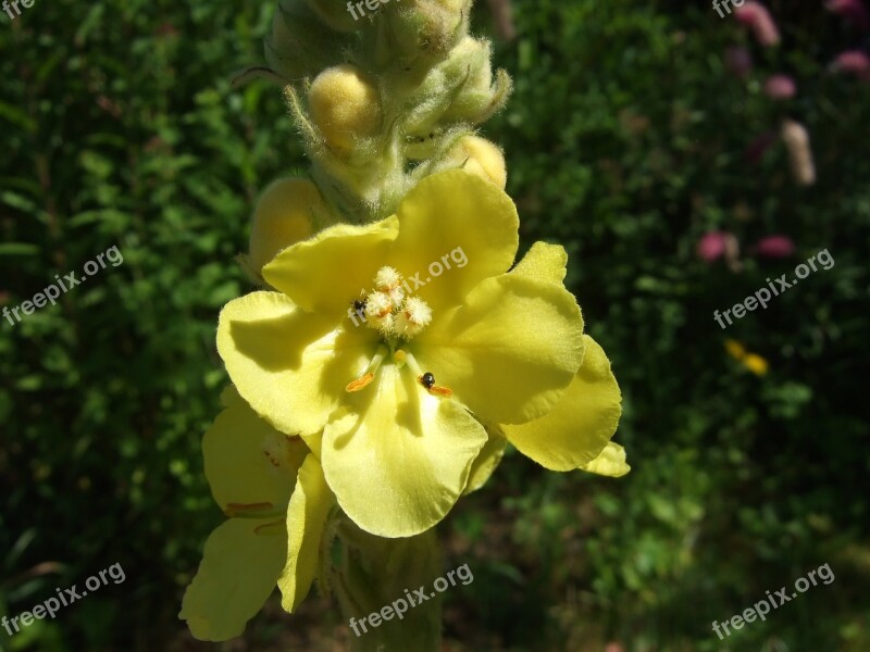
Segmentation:
[(433, 318), (414, 354), (481, 421), (525, 423), (559, 402), (583, 359), (583, 319), (561, 286), (505, 274)]

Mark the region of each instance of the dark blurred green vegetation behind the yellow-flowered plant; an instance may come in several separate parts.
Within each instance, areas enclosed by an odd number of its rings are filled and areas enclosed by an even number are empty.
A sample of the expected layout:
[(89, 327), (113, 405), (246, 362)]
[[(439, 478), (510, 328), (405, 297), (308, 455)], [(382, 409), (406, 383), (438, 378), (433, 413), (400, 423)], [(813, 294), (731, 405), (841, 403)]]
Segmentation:
[[(480, 3), (475, 27), (490, 29)], [(870, 649), (868, 365), (870, 85), (833, 75), (867, 46), (821, 3), (780, 2), (760, 50), (706, 3), (514, 0), (497, 45), (517, 91), (486, 135), (507, 152), (524, 247), (563, 243), (568, 283), (624, 394), (619, 480), (508, 455), (442, 526), (447, 649), (624, 652)], [(126, 581), (0, 650), (341, 650), (323, 599), (270, 603), (244, 640), (196, 643), (176, 620), (222, 521), (200, 438), (226, 377), (220, 308), (249, 289), (233, 256), (271, 179), (304, 165), (279, 91), (243, 89), (272, 0), (47, 2), (0, 14), (0, 305), (116, 244), (124, 264), (14, 327), (0, 323), (0, 615), (119, 562)], [(724, 50), (745, 45), (739, 78)], [(762, 92), (773, 73), (798, 95)], [(747, 147), (791, 115), (818, 184), (784, 147)], [(707, 230), (741, 273), (695, 254)], [(820, 271), (723, 331), (713, 310), (828, 249)], [(724, 350), (770, 365), (756, 376)], [(711, 622), (828, 563), (836, 579), (726, 641)]]

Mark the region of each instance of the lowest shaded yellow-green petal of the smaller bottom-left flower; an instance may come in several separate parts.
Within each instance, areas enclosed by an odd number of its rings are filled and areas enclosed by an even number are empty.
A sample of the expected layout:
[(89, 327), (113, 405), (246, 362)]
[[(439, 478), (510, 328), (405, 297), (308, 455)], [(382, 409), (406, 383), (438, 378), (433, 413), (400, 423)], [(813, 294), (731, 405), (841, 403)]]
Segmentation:
[(187, 587), (178, 614), (195, 638), (225, 641), (241, 636), (274, 590), (286, 559), (287, 537), (256, 534), (263, 523), (231, 518), (206, 542), (199, 572)]

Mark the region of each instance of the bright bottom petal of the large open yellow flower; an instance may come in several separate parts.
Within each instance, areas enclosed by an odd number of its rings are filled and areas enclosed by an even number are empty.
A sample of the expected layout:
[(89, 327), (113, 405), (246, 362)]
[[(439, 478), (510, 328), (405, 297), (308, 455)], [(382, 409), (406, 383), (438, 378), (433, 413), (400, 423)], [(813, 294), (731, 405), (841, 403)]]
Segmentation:
[(381, 537), (431, 528), (465, 487), (486, 442), (483, 426), (391, 363), (349, 403), (323, 432), (323, 471), (341, 509)]

